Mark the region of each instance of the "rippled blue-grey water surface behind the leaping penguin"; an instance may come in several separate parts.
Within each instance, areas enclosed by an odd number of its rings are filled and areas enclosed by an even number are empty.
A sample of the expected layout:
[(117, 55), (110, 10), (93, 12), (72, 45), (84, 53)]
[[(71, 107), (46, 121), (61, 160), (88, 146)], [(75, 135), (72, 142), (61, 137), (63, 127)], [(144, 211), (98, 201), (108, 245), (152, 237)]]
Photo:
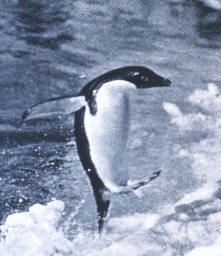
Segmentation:
[[(174, 200), (180, 190), (177, 180), (182, 180), (184, 190), (191, 187), (194, 181), (177, 171), (179, 163), (172, 160), (171, 145), (182, 138), (169, 125), (162, 102), (188, 111), (185, 99), (194, 89), (206, 88), (211, 81), (220, 85), (220, 20), (219, 11), (194, 1), (2, 0), (1, 220), (55, 197), (66, 203), (67, 222), (91, 227), (95, 207), (70, 139), (73, 117), (34, 125), (22, 124), (20, 117), (28, 106), (78, 93), (93, 77), (124, 65), (148, 66), (173, 83), (169, 89), (144, 93), (144, 111), (132, 119), (132, 127), (137, 137), (143, 132), (147, 143), (129, 156), (141, 158), (134, 167), (138, 174), (144, 173), (145, 166), (150, 173), (166, 166), (176, 174), (166, 172), (164, 185), (151, 187), (147, 200), (117, 197), (113, 215), (151, 211)], [(136, 123), (144, 115), (150, 121), (137, 131)], [(191, 139), (197, 141), (197, 136)], [(173, 188), (168, 188), (169, 181)]]

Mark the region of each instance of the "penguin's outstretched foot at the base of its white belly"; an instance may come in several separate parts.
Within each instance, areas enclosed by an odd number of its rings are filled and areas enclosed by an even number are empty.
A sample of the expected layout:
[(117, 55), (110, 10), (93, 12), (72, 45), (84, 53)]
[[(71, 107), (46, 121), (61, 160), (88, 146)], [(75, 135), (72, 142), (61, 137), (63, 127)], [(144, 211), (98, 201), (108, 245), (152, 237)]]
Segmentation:
[(127, 186), (120, 186), (118, 187), (117, 194), (128, 194), (134, 190), (137, 190), (137, 188), (140, 188), (142, 186), (147, 185), (150, 181), (156, 179), (161, 173), (161, 170), (159, 172), (153, 173), (152, 176), (145, 178), (143, 180), (137, 181), (135, 184), (127, 185)]

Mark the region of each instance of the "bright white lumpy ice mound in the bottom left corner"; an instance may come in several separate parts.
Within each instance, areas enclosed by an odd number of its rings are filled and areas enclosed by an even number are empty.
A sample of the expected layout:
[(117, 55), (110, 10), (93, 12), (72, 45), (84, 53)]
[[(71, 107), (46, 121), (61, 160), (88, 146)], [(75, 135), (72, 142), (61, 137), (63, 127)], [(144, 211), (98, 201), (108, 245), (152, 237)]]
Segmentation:
[(55, 200), (46, 206), (35, 204), (28, 212), (9, 215), (1, 227), (1, 256), (64, 255), (71, 252), (70, 241), (58, 225), (64, 203)]

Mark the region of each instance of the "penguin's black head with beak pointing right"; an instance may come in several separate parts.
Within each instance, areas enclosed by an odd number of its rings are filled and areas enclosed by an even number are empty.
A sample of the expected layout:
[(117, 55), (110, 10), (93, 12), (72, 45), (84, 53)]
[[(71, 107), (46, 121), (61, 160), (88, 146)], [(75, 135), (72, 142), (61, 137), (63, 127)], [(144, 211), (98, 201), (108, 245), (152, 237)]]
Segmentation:
[(168, 87), (171, 85), (171, 81), (167, 78), (157, 75), (154, 71), (143, 66), (128, 67), (128, 71), (125, 70), (124, 79), (134, 83), (137, 88)]

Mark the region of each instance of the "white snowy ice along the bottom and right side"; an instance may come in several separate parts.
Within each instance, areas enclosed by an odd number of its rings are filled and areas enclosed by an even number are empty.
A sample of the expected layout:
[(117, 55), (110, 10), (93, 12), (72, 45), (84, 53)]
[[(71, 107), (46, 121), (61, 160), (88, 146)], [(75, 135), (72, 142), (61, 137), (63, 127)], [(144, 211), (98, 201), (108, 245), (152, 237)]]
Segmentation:
[(173, 145), (174, 158), (191, 161), (196, 189), (154, 213), (109, 218), (102, 236), (79, 229), (73, 240), (62, 229), (63, 202), (35, 204), (8, 216), (1, 227), (0, 255), (220, 256), (220, 90), (210, 83), (187, 101), (192, 112), (183, 113), (169, 102), (163, 108), (182, 138), (206, 133), (198, 142)]

